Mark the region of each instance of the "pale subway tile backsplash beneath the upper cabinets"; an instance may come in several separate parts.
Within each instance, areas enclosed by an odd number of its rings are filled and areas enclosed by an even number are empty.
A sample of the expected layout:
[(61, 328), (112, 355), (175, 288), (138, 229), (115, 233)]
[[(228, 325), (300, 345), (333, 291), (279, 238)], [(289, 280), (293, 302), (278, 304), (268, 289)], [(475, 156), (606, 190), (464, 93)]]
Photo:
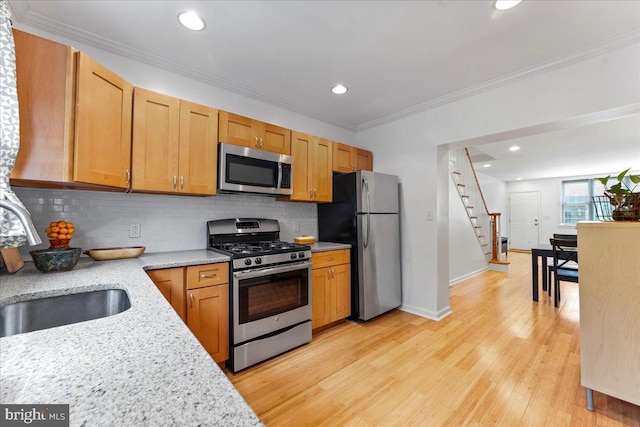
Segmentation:
[[(45, 229), (59, 219), (71, 221), (76, 232), (71, 246), (83, 249), (146, 246), (146, 252), (203, 249), (205, 223), (224, 218), (273, 218), (280, 238), (318, 235), (317, 208), (312, 203), (278, 202), (274, 197), (220, 194), (213, 197), (50, 190), (13, 187), (31, 213), (45, 244)], [(140, 237), (129, 237), (131, 224)], [(34, 247), (20, 248), (25, 259)], [(26, 255), (26, 257), (24, 256)]]

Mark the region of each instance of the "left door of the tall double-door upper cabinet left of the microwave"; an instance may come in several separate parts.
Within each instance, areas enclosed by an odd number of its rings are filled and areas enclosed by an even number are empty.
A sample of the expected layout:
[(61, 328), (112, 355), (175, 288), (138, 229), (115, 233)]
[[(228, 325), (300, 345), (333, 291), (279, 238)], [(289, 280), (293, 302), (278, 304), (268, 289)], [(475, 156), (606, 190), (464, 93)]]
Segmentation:
[(177, 192), (180, 100), (135, 88), (133, 190)]

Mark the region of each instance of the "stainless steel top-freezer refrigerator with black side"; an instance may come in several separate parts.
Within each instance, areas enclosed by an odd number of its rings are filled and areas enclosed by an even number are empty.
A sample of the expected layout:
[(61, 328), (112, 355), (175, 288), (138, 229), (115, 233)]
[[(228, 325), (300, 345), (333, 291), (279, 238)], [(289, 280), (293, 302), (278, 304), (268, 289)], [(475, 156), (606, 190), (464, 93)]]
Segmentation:
[(398, 177), (335, 174), (333, 203), (318, 205), (321, 241), (351, 244), (351, 319), (366, 321), (401, 304)]

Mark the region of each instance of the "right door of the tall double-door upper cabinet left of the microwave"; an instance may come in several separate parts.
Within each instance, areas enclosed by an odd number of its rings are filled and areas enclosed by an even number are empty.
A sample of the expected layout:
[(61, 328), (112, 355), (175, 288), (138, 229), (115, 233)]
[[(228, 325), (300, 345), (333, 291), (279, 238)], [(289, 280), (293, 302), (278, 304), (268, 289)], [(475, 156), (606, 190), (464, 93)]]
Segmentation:
[(216, 194), (218, 111), (180, 101), (180, 192)]

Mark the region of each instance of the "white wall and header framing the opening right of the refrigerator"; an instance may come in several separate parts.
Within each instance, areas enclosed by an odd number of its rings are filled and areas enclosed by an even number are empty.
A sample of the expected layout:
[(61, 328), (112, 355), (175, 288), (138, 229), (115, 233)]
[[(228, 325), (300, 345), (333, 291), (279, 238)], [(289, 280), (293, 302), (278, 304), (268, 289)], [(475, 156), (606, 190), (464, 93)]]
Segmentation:
[[(446, 156), (436, 147), (640, 102), (640, 44), (358, 132), (376, 170), (403, 183), (403, 309), (450, 312)], [(436, 212), (428, 222), (425, 212)], [(463, 248), (460, 248), (463, 250)]]

